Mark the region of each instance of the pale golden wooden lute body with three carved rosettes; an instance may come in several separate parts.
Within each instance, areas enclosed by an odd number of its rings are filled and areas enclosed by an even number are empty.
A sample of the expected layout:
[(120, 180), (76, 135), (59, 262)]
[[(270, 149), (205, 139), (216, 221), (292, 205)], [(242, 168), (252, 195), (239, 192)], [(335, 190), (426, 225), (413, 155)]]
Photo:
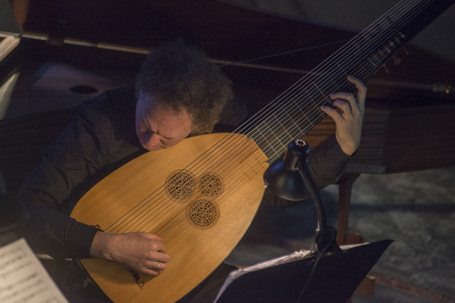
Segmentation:
[(246, 136), (212, 134), (125, 164), (88, 191), (71, 216), (106, 232), (156, 234), (172, 261), (153, 279), (102, 259), (82, 264), (116, 303), (177, 301), (226, 259), (248, 228), (262, 198), (266, 160)]

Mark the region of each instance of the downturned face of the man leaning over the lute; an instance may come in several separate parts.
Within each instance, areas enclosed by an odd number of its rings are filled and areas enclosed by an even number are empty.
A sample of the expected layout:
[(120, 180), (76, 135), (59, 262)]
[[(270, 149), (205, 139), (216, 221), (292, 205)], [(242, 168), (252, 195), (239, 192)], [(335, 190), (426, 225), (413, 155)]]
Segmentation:
[(191, 118), (187, 112), (176, 114), (158, 105), (155, 97), (140, 93), (136, 105), (136, 135), (148, 151), (167, 149), (191, 133)]

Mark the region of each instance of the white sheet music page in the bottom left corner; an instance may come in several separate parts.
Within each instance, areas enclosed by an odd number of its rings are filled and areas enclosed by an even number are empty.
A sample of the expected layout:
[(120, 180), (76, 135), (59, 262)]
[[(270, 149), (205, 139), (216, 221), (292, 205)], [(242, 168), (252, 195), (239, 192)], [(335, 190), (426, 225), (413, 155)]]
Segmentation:
[(22, 238), (0, 247), (1, 303), (68, 303)]

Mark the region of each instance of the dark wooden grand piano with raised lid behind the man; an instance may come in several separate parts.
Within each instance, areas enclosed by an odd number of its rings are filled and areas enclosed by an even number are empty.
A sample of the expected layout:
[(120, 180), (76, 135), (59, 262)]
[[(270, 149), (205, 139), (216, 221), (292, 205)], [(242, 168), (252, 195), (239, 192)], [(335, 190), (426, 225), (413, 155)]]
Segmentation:
[[(164, 42), (183, 38), (223, 66), (235, 93), (226, 123), (236, 126), (357, 34), (224, 1), (9, 4), (20, 37), (1, 32), (0, 85), (9, 105), (0, 121), (0, 172), (7, 193), (39, 163), (70, 108), (131, 84), (149, 49)], [(361, 145), (339, 181), (340, 244), (348, 241), (350, 191), (360, 173), (455, 163), (454, 70), (455, 62), (408, 44), (368, 81)], [(316, 147), (333, 132), (324, 119), (304, 139)]]

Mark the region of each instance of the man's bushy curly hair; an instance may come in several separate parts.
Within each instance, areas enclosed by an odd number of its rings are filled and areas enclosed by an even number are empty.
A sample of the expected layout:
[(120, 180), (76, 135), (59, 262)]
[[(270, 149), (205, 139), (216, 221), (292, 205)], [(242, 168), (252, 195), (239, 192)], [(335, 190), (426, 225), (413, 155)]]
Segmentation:
[(221, 70), (203, 51), (180, 41), (147, 56), (136, 80), (136, 95), (141, 91), (177, 113), (187, 111), (193, 135), (212, 132), (232, 98), (231, 82)]

